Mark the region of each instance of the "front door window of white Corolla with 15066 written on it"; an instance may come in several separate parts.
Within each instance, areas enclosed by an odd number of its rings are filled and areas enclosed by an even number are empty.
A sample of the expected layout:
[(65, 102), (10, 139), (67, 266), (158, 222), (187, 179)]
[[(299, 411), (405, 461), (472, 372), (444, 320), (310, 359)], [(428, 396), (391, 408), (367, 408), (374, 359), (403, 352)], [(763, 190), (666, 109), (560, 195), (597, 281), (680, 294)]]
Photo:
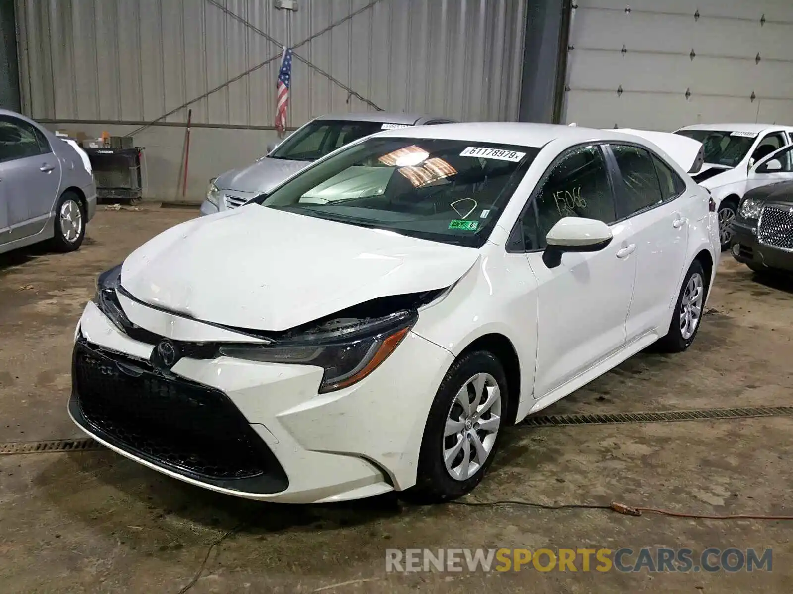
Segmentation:
[(534, 196), (534, 208), (523, 216), (527, 250), (543, 249), (551, 227), (565, 216), (614, 223), (614, 194), (600, 147), (573, 149), (546, 174)]

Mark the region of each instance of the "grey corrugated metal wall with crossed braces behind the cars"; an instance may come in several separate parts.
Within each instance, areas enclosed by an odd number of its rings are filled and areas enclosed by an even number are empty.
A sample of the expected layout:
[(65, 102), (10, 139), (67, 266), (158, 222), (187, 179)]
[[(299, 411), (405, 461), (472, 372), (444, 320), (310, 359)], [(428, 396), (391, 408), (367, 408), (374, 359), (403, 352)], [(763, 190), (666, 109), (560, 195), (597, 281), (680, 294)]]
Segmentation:
[[(199, 124), (270, 126), (278, 44), (296, 46), (364, 9), (296, 54), (385, 111), (515, 120), (526, 2), (298, 0), (291, 12), (273, 0), (17, 0), (23, 110), (43, 120), (155, 120), (274, 58), (190, 105)], [(365, 109), (294, 60), (290, 126)], [(186, 109), (165, 121), (184, 120)]]

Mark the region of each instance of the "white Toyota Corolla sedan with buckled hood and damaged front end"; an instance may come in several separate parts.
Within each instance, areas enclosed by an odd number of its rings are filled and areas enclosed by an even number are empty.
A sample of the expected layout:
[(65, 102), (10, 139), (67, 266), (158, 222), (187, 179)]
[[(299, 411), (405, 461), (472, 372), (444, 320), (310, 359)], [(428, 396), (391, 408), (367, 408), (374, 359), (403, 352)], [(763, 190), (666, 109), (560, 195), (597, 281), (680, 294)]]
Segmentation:
[(69, 412), (222, 493), (443, 501), (507, 425), (688, 348), (719, 254), (707, 190), (637, 135), (385, 131), (103, 273)]

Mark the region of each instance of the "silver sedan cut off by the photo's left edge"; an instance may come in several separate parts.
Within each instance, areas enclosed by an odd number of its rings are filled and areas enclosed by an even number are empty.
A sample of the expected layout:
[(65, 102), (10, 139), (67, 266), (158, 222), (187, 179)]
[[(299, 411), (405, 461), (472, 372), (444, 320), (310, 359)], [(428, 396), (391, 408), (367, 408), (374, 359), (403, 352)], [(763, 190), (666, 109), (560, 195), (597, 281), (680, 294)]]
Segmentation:
[(72, 252), (96, 205), (86, 154), (33, 120), (0, 109), (0, 253), (44, 241)]

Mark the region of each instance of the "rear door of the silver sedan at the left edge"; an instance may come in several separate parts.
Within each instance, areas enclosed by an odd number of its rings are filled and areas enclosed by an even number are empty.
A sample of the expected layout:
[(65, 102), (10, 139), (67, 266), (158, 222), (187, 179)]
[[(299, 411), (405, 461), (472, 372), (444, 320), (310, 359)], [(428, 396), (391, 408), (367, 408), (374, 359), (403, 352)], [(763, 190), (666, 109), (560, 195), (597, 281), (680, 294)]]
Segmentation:
[(61, 169), (42, 132), (13, 116), (0, 116), (0, 194), (10, 239), (39, 233), (52, 212)]

